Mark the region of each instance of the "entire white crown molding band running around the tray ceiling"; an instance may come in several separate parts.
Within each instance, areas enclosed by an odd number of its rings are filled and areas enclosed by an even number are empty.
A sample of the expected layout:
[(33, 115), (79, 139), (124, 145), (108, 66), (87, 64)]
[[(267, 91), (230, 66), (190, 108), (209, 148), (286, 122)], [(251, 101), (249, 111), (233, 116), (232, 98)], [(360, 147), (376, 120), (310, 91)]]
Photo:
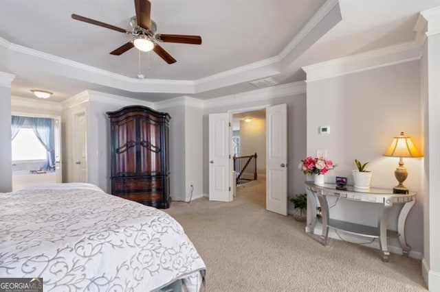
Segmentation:
[[(46, 66), (45, 70), (51, 73), (62, 75), (63, 77), (118, 88), (121, 90), (131, 91), (133, 93), (179, 93), (182, 95), (188, 95), (202, 93), (207, 90), (222, 88), (225, 86), (231, 86), (241, 82), (258, 80), (260, 78), (270, 77), (281, 73), (283, 70), (281, 62), (292, 62), (292, 56), (290, 55), (292, 55), (292, 52), (297, 51), (298, 47), (305, 47), (303, 42), (308, 36), (313, 34), (312, 38), (316, 38), (318, 35), (322, 35), (322, 32), (315, 32), (316, 27), (322, 24), (323, 19), (329, 15), (329, 12), (331, 12), (331, 10), (333, 10), (338, 3), (338, 0), (325, 1), (325, 3), (321, 5), (318, 11), (306, 23), (306, 25), (300, 29), (298, 34), (288, 43), (286, 47), (283, 48), (280, 53), (278, 53), (278, 55), (265, 60), (253, 62), (245, 66), (239, 66), (228, 71), (202, 77), (197, 80), (139, 80), (135, 77), (127, 77), (110, 71), (98, 69), (94, 66), (82, 64), (80, 62), (53, 56), (49, 53), (16, 45), (3, 38), (0, 38), (0, 46), (4, 47), (10, 52), (15, 52), (15, 54), (8, 54), (8, 58), (10, 58), (10, 66), (14, 64), (14, 58), (24, 58), (25, 56), (28, 56), (28, 60), (26, 61), (28, 62), (27, 64), (32, 63), (32, 58), (35, 58), (35, 60), (48, 61), (50, 62), (51, 66)], [(327, 24), (327, 26), (332, 25)]]

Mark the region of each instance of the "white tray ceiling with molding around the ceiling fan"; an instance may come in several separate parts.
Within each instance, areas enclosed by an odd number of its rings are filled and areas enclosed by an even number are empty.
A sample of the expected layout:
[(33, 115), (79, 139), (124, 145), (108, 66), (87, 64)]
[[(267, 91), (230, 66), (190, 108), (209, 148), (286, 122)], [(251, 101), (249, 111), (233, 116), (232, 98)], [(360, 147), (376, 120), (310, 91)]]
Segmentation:
[[(93, 89), (150, 101), (179, 95), (206, 99), (250, 90), (248, 82), (262, 77), (305, 80), (301, 66), (413, 40), (418, 12), (440, 0), (151, 3), (157, 33), (196, 34), (203, 42), (162, 44), (177, 60), (171, 65), (155, 53), (142, 53), (146, 79), (137, 80), (137, 49), (109, 55), (129, 36), (70, 17), (129, 29), (133, 1), (0, 0), (0, 71), (17, 75), (12, 94), (31, 97), (31, 88), (41, 88), (61, 101)], [(333, 10), (323, 14), (326, 5), (340, 9), (342, 21)], [(313, 23), (315, 29), (307, 30)]]

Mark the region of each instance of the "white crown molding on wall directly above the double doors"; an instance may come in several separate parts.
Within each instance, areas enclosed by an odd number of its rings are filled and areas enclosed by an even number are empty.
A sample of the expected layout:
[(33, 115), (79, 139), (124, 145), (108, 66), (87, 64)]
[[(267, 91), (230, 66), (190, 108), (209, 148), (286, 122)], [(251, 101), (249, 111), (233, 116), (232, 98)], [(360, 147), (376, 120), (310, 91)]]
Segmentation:
[(245, 93), (226, 95), (224, 97), (216, 97), (214, 99), (206, 99), (203, 101), (203, 108), (217, 108), (221, 106), (248, 104), (255, 101), (264, 101), (266, 99), (299, 95), (305, 92), (306, 84), (304, 81), (292, 82), (288, 84), (246, 91)]

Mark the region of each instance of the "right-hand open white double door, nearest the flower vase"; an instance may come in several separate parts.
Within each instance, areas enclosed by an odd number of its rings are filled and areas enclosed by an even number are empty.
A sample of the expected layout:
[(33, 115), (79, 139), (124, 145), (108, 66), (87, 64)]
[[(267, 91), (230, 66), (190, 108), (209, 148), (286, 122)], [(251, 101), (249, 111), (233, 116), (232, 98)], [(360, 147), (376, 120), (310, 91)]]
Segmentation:
[(287, 215), (287, 104), (266, 108), (266, 209)]

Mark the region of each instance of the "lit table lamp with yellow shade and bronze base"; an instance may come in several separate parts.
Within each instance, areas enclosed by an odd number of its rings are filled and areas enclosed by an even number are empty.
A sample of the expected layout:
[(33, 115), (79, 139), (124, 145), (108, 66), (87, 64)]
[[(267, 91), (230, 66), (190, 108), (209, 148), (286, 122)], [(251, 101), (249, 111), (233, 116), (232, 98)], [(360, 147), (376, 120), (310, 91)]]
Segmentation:
[(400, 158), (399, 166), (394, 172), (399, 184), (393, 188), (393, 193), (407, 194), (408, 188), (403, 184), (408, 177), (408, 171), (406, 171), (406, 167), (404, 167), (404, 157), (421, 157), (421, 153), (414, 146), (411, 138), (405, 136), (404, 132), (401, 132), (400, 136), (393, 138), (393, 142), (391, 142), (390, 147), (386, 149), (383, 155)]

